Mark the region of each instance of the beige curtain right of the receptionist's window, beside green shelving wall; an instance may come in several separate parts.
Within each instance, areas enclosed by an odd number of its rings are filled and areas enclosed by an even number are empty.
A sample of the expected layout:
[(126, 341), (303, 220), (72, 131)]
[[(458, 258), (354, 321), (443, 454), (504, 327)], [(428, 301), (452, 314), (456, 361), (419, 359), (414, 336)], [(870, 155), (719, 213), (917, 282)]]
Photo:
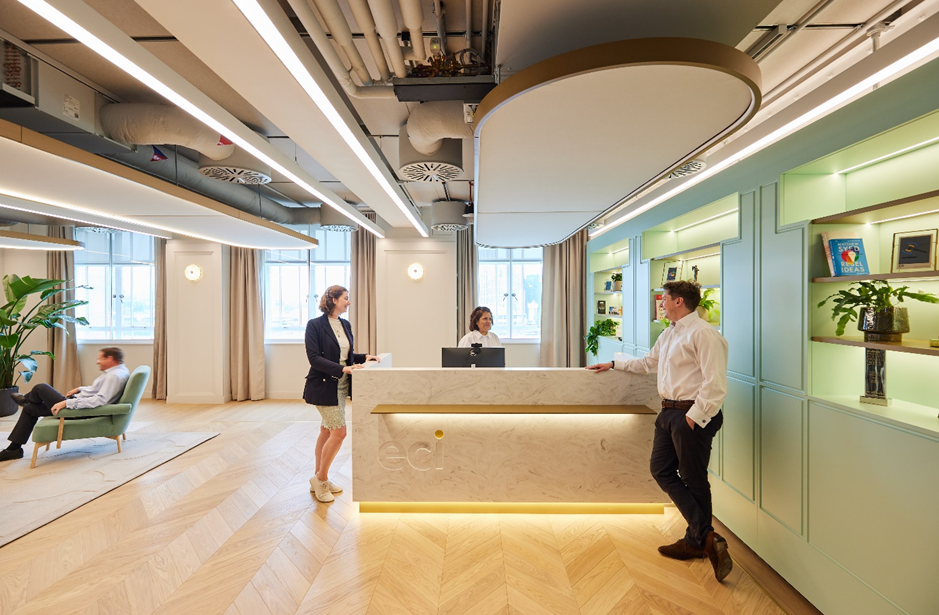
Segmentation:
[(587, 231), (544, 248), (541, 366), (583, 367), (587, 317)]

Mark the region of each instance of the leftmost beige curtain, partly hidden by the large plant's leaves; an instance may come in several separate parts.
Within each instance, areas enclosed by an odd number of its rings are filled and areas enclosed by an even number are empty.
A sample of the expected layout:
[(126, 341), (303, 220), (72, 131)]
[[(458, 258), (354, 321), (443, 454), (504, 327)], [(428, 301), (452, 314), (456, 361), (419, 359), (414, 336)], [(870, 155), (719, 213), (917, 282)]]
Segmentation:
[[(74, 226), (50, 226), (49, 236), (59, 239), (75, 239)], [(52, 280), (67, 280), (63, 287), (74, 286), (75, 253), (71, 250), (50, 250), (46, 253), (46, 277)], [(60, 303), (75, 299), (75, 291), (69, 290), (49, 297), (49, 303)], [(66, 314), (75, 315), (75, 310)], [(71, 391), (81, 386), (82, 374), (78, 363), (78, 340), (75, 325), (65, 323), (66, 331), (53, 327), (46, 332), (46, 346), (55, 355), (50, 361), (49, 384), (59, 391)]]

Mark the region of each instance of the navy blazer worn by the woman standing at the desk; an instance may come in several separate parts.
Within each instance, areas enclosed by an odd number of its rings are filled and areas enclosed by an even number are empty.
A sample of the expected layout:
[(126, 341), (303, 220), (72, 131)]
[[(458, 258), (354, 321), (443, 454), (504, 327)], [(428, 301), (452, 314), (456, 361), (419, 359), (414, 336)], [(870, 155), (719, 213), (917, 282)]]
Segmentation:
[[(364, 354), (352, 352), (352, 325), (340, 318), (342, 328), (349, 340), (349, 357), (346, 365), (365, 363)], [(310, 371), (303, 387), (303, 400), (317, 406), (339, 405), (339, 378), (342, 377), (343, 365), (339, 363), (339, 340), (329, 324), (329, 316), (323, 314), (306, 323), (306, 356), (310, 361)], [(352, 395), (352, 383), (349, 383), (349, 395)]]

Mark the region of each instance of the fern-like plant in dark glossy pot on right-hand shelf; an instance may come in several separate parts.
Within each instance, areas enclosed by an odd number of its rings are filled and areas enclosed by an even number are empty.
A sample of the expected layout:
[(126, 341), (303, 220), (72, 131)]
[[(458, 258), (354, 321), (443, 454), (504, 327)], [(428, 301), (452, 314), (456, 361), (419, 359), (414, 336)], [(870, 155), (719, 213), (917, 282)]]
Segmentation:
[(838, 323), (835, 335), (844, 335), (845, 326), (858, 321), (858, 331), (864, 332), (865, 342), (899, 342), (910, 331), (910, 319), (905, 307), (895, 306), (906, 299), (939, 303), (931, 293), (912, 293), (909, 286), (893, 288), (886, 280), (852, 282), (847, 290), (838, 291), (818, 303), (822, 307), (832, 302), (831, 319)]

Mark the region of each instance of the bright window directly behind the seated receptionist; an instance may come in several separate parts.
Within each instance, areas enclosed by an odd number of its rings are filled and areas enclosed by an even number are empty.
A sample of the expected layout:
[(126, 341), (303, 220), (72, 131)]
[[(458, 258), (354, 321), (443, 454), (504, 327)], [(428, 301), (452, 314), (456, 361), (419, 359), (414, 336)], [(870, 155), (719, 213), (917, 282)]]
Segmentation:
[(541, 248), (479, 248), (479, 304), (505, 339), (541, 339)]

